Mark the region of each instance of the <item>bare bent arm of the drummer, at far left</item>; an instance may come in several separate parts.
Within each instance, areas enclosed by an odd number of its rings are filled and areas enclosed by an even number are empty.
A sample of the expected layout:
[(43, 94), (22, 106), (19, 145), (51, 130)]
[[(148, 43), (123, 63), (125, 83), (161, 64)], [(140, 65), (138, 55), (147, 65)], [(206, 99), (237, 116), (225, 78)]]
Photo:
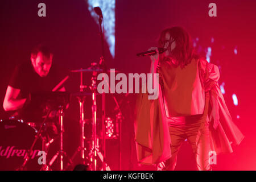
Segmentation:
[(5, 111), (17, 110), (23, 107), (27, 98), (17, 99), (19, 93), (20, 89), (15, 89), (8, 85), (5, 100), (3, 100), (3, 109), (5, 109)]

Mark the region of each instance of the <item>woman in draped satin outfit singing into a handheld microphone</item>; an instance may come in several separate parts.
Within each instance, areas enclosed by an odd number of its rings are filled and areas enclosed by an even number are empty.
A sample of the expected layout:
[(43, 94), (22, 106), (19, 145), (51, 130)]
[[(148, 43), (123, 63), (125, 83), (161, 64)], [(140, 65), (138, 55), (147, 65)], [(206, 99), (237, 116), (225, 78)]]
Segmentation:
[(137, 100), (135, 141), (139, 163), (174, 170), (185, 139), (192, 146), (198, 170), (212, 170), (210, 151), (232, 152), (243, 134), (233, 123), (218, 85), (218, 67), (196, 55), (191, 37), (181, 27), (163, 30), (151, 55), (150, 73), (159, 73), (159, 97)]

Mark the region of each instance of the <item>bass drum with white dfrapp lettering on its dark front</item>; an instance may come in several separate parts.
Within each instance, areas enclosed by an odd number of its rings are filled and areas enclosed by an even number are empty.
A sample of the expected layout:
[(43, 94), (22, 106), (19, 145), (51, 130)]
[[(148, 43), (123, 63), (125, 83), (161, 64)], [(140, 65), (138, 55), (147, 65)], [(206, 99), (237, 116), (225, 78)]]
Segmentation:
[[(0, 170), (14, 171), (18, 169), (27, 156), (36, 136), (36, 129), (23, 123), (22, 120), (1, 120), (0, 121)], [(40, 170), (42, 165), (38, 155), (42, 150), (42, 139), (39, 138), (31, 151), (31, 159), (23, 170)], [(42, 161), (42, 160), (39, 160)]]

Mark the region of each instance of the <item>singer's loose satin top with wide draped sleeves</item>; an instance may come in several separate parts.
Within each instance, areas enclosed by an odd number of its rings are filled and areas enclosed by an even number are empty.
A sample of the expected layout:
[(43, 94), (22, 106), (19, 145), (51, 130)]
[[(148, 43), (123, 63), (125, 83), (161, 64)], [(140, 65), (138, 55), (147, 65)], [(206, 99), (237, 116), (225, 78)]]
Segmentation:
[(147, 93), (139, 94), (137, 98), (135, 142), (138, 162), (158, 164), (171, 158), (166, 111), (170, 117), (203, 114), (206, 92), (210, 95), (207, 122), (212, 118), (209, 123), (211, 150), (217, 154), (233, 152), (231, 143), (240, 144), (244, 136), (226, 107), (217, 82), (220, 78), (218, 67), (205, 59), (192, 59), (184, 68), (175, 68), (163, 61), (158, 73), (158, 99), (148, 100)]

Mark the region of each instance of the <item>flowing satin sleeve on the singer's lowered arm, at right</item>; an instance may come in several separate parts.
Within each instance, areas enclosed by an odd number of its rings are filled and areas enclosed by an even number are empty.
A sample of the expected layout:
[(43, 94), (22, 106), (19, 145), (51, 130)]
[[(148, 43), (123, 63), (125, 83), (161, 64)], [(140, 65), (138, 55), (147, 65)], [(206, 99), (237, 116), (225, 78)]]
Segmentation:
[(220, 72), (216, 65), (210, 64), (206, 60), (201, 60), (200, 65), (205, 92), (210, 93), (208, 119), (212, 150), (216, 151), (217, 154), (233, 152), (231, 144), (240, 144), (244, 136), (232, 121), (225, 104), (218, 85)]

